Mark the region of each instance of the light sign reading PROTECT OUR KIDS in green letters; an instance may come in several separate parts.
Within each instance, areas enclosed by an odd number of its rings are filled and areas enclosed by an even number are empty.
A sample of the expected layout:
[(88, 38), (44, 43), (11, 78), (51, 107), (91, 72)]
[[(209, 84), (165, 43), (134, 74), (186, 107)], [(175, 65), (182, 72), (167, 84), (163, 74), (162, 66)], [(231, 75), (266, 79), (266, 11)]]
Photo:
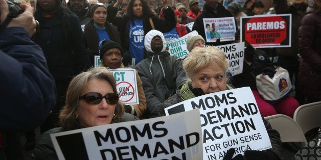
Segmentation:
[(170, 41), (166, 41), (166, 45), (169, 48), (168, 52), (172, 56), (177, 56), (179, 58), (186, 57), (190, 53), (187, 50), (187, 37), (189, 35), (198, 35), (198, 33), (197, 33), (197, 31), (192, 31), (183, 37), (180, 37), (180, 38), (177, 38), (174, 40), (170, 40)]

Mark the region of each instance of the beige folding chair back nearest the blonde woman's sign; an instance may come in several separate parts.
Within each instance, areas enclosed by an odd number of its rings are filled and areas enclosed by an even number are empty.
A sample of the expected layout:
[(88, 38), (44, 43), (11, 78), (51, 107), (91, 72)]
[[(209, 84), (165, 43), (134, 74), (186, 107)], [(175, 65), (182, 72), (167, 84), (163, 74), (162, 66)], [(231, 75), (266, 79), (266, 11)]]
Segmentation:
[(300, 126), (289, 116), (278, 114), (264, 118), (279, 131), (282, 142), (301, 142), (302, 146), (308, 143)]

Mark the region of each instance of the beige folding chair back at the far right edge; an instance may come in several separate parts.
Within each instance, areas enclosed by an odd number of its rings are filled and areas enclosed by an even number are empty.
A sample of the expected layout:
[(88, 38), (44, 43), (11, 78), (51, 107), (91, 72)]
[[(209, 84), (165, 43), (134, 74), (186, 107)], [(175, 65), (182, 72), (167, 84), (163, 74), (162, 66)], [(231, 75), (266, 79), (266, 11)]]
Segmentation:
[(310, 129), (321, 126), (321, 101), (299, 106), (293, 120), (300, 125), (304, 134)]

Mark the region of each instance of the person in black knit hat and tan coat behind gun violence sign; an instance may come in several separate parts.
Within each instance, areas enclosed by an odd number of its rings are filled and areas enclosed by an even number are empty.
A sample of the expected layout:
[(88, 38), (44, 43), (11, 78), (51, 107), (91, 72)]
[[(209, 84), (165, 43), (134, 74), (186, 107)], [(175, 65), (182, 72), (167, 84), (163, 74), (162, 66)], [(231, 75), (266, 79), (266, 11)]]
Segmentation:
[[(108, 67), (110, 69), (117, 69), (117, 68), (130, 68), (125, 67), (122, 63), (122, 48), (120, 44), (114, 41), (103, 41), (102, 47), (100, 48), (100, 60), (101, 66)], [(141, 117), (147, 108), (146, 97), (143, 89), (143, 83), (141, 81), (138, 72), (136, 71), (136, 81), (137, 81), (137, 89), (138, 89), (138, 97), (139, 97), (139, 104), (133, 105), (124, 105), (125, 112), (135, 115), (137, 117)]]

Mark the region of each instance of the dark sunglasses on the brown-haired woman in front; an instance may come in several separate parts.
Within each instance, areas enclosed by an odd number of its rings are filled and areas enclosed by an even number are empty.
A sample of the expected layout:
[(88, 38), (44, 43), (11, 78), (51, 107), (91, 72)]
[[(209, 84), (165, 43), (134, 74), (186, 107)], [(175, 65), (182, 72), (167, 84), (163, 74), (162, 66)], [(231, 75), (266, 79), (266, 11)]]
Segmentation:
[(117, 93), (107, 93), (105, 96), (102, 96), (97, 92), (89, 92), (79, 96), (79, 99), (84, 99), (88, 104), (99, 104), (103, 98), (106, 99), (108, 104), (116, 104), (119, 99)]

